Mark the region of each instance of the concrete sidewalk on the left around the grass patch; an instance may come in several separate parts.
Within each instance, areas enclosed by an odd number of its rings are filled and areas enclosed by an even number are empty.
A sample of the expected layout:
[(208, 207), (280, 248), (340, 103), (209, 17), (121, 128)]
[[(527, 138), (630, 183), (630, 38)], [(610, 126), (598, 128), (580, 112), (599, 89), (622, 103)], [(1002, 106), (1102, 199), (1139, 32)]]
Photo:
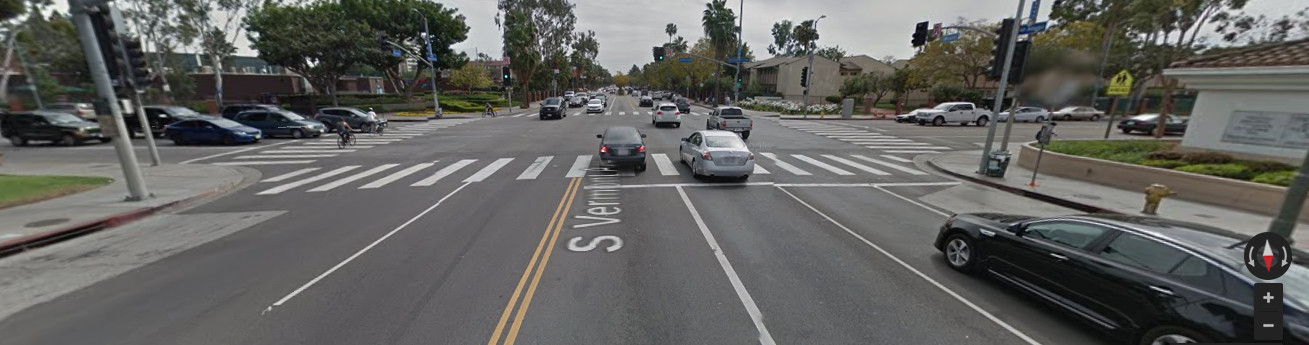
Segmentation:
[(0, 256), (119, 226), (151, 214), (194, 206), (259, 180), (258, 170), (240, 166), (141, 166), (141, 172), (153, 197), (131, 203), (123, 200), (127, 196), (127, 182), (118, 165), (8, 162), (0, 166), (0, 174), (114, 179), (96, 189), (0, 209)]

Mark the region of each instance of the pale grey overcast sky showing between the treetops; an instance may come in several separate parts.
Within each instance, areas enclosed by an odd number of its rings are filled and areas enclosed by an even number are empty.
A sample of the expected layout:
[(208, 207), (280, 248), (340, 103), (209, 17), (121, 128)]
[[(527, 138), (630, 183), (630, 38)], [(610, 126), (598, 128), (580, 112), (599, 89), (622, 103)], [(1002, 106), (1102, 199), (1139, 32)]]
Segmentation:
[[(1026, 0), (1025, 7), (1031, 5)], [(496, 0), (439, 0), (458, 9), (467, 18), (469, 39), (456, 44), (457, 51), (475, 56), (475, 51), (491, 56), (500, 55), (500, 31), (495, 25)], [(707, 0), (573, 0), (577, 5), (576, 30), (594, 30), (600, 41), (600, 64), (611, 72), (627, 72), (632, 64), (652, 60), (651, 47), (668, 42), (664, 26), (675, 24), (678, 35), (689, 42), (703, 37), (700, 16)], [(1038, 21), (1050, 16), (1054, 0), (1041, 0)], [(741, 14), (741, 0), (728, 0), (729, 8)], [(1304, 8), (1305, 0), (1250, 0), (1249, 13), (1275, 14)], [(67, 10), (67, 1), (56, 1), (55, 8)], [(801, 22), (826, 14), (818, 24), (819, 46), (839, 44), (850, 55), (899, 59), (912, 54), (910, 35), (914, 24), (931, 21), (953, 24), (958, 17), (986, 18), (999, 22), (1017, 10), (1014, 0), (745, 0), (745, 41), (755, 56), (768, 58), (772, 42), (772, 24), (781, 20)], [(1024, 9), (1026, 17), (1030, 9)], [(1207, 24), (1206, 33), (1213, 31)], [(254, 55), (250, 43), (242, 38), (236, 43), (240, 55)]]

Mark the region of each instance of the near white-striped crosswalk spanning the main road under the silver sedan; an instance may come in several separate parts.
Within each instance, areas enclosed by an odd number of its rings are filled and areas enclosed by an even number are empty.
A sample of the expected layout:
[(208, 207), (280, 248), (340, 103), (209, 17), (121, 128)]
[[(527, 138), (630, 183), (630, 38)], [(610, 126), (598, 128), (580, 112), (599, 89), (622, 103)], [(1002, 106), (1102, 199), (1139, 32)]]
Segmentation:
[[(673, 153), (652, 153), (652, 169), (643, 172), (653, 178), (687, 176), (690, 169)], [(454, 158), (420, 163), (347, 165), (338, 167), (304, 167), (260, 180), (257, 195), (287, 192), (329, 192), (336, 189), (421, 188), (441, 182), (522, 182), (581, 178), (598, 166), (596, 157), (541, 156), (501, 158)], [(624, 170), (631, 172), (630, 170)], [(631, 172), (627, 176), (635, 176)], [(781, 176), (923, 176), (910, 162), (893, 157), (868, 154), (781, 154), (762, 152), (755, 158), (754, 175)]]

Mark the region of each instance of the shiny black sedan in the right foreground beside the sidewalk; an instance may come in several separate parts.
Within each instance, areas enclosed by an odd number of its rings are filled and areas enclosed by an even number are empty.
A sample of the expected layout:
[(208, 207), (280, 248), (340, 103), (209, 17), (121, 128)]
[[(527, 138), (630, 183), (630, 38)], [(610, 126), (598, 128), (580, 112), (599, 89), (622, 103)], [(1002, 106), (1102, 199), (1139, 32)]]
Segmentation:
[[(936, 248), (950, 268), (1018, 288), (1121, 344), (1250, 342), (1257, 281), (1249, 238), (1156, 217), (952, 216)], [(1309, 344), (1306, 254), (1284, 285), (1283, 344)]]

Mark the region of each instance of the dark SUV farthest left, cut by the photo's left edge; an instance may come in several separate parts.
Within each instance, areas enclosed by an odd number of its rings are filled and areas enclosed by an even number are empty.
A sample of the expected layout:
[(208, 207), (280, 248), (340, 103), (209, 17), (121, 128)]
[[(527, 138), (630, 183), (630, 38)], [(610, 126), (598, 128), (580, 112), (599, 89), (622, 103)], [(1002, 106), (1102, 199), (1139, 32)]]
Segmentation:
[(25, 146), (27, 141), (33, 140), (59, 142), (67, 146), (89, 140), (110, 141), (110, 137), (99, 131), (99, 124), (76, 115), (42, 110), (0, 116), (0, 136), (9, 139), (14, 146)]

